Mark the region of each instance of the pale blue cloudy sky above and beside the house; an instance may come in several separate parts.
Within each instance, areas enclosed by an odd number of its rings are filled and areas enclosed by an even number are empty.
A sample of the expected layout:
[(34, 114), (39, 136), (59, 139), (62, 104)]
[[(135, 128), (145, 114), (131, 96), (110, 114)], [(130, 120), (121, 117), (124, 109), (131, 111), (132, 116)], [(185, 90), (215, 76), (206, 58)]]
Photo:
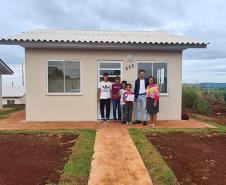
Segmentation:
[[(183, 53), (183, 82), (226, 83), (224, 0), (0, 0), (0, 37), (37, 28), (151, 30), (209, 42)], [(3, 84), (22, 84), (24, 49), (1, 46), (0, 58), (15, 72)]]

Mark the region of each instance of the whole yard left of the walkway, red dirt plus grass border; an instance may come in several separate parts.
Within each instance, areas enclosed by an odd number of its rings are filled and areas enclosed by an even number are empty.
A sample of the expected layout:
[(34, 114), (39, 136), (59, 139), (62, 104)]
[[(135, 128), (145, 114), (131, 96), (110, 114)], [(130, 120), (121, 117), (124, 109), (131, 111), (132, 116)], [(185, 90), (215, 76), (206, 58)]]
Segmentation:
[(88, 183), (94, 130), (0, 131), (0, 184)]

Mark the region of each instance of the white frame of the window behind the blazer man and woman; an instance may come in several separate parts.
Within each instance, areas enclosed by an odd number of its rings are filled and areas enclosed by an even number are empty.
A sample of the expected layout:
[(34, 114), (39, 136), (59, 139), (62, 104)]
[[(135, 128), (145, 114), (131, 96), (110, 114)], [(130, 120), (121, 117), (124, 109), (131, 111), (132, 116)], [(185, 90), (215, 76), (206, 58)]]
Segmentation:
[(152, 75), (154, 72), (154, 63), (165, 63), (167, 66), (167, 92), (166, 93), (160, 93), (160, 96), (169, 96), (169, 63), (166, 61), (162, 61), (162, 60), (137, 60), (136, 61), (136, 76), (139, 75), (139, 71), (138, 71), (138, 64), (139, 63), (151, 63), (152, 64)]

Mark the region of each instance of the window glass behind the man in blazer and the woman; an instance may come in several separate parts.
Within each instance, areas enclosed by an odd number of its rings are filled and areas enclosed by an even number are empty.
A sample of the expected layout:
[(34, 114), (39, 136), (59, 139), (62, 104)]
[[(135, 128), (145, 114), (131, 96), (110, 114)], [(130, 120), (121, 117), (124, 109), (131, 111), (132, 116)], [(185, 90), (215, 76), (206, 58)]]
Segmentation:
[(146, 71), (146, 77), (154, 76), (156, 83), (160, 88), (160, 93), (167, 93), (167, 63), (164, 62), (138, 62), (137, 63), (137, 75), (139, 76), (139, 70), (144, 69)]

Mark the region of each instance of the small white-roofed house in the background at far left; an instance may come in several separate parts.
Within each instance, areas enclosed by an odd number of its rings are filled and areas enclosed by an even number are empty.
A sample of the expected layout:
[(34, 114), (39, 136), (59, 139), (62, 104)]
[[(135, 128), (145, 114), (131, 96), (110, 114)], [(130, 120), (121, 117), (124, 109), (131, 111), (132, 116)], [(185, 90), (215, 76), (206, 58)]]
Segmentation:
[(2, 104), (25, 104), (25, 88), (22, 86), (3, 86)]

